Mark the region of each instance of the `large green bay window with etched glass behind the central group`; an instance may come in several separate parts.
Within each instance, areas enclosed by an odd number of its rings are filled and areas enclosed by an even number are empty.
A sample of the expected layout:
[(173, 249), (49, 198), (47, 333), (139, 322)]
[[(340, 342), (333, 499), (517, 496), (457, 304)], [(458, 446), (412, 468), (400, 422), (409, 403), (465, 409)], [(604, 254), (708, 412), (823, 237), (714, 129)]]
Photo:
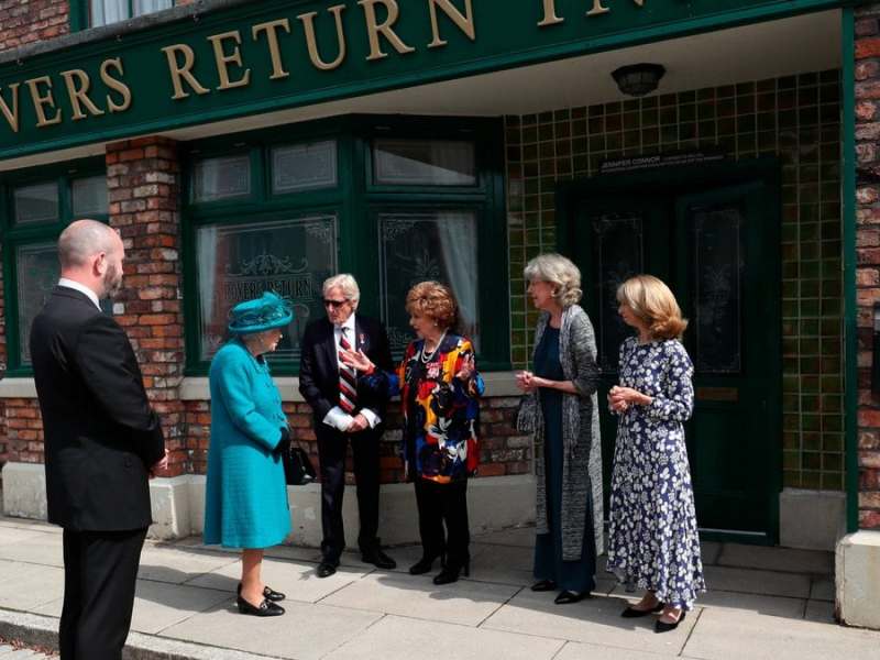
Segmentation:
[(229, 310), (272, 289), (296, 316), (268, 360), (276, 375), (296, 375), (305, 328), (326, 314), (321, 285), (341, 272), (358, 278), (359, 309), (385, 322), (395, 358), (415, 337), (407, 292), (437, 279), (455, 293), (481, 369), (509, 369), (507, 296), (493, 293), (506, 290), (507, 272), (501, 130), (488, 120), (376, 121), (355, 116), (190, 144), (188, 374), (207, 373), (228, 341)]

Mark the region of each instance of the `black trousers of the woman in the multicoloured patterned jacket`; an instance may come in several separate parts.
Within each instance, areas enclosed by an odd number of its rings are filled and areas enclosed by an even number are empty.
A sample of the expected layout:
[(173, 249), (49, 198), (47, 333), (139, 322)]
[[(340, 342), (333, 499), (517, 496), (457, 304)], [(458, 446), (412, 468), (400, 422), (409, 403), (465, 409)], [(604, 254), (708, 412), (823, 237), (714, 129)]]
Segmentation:
[[(447, 565), (462, 565), (471, 557), (468, 546), (468, 480), (438, 484), (416, 477), (416, 506), (425, 557), (447, 553)], [(446, 525), (446, 531), (443, 526)]]

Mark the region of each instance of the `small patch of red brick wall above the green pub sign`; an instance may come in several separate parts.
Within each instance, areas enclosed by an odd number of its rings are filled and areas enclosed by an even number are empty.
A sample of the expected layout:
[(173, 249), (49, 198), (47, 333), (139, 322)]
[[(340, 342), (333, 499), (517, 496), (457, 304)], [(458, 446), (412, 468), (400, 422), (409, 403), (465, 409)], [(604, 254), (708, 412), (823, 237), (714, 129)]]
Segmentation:
[(0, 0), (0, 51), (69, 31), (69, 0)]

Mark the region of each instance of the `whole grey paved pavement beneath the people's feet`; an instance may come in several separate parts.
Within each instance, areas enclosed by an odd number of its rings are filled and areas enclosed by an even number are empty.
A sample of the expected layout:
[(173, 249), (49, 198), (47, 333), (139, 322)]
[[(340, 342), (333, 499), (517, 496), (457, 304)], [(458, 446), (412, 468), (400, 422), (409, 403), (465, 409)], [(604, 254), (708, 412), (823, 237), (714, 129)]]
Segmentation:
[[(554, 605), (552, 592), (531, 592), (534, 538), (532, 528), (474, 536), (471, 576), (444, 586), (407, 573), (414, 546), (388, 550), (394, 571), (345, 553), (323, 580), (318, 550), (273, 548), (264, 579), (287, 594), (274, 618), (238, 614), (237, 552), (147, 541), (125, 660), (880, 660), (880, 631), (834, 623), (831, 552), (706, 542), (711, 591), (657, 635), (652, 617), (620, 618), (638, 594), (603, 565), (590, 600)], [(61, 530), (0, 518), (0, 640), (57, 648), (62, 596)], [(6, 649), (0, 660), (45, 657)]]

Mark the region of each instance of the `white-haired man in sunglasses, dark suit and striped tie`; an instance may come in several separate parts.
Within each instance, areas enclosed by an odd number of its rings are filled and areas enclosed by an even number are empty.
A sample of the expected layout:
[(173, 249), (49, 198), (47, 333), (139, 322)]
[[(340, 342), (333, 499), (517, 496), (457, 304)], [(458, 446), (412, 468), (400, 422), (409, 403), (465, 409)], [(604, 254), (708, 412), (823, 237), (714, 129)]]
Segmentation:
[(361, 292), (354, 277), (336, 275), (323, 283), (327, 318), (309, 323), (302, 337), (299, 392), (312, 409), (321, 463), (321, 563), (318, 576), (332, 575), (345, 548), (342, 496), (345, 491), (345, 448), (351, 440), (361, 558), (381, 569), (397, 564), (380, 548), (378, 443), (386, 398), (363, 386), (358, 372), (339, 360), (341, 351), (363, 351), (378, 369), (393, 369), (388, 336), (378, 321), (355, 314)]

